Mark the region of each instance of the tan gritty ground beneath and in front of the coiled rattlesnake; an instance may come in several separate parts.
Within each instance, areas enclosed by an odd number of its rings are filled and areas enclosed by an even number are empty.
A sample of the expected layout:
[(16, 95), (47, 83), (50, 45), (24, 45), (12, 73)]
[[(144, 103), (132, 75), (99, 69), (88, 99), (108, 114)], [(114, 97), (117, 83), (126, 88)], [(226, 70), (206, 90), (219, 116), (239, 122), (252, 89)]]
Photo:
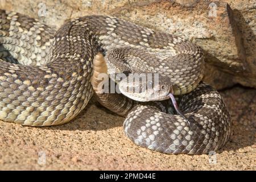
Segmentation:
[(167, 155), (136, 146), (123, 134), (124, 118), (92, 100), (63, 126), (36, 128), (0, 121), (0, 169), (255, 170), (256, 90), (237, 86), (221, 93), (233, 123), (216, 164), (209, 164), (208, 155)]

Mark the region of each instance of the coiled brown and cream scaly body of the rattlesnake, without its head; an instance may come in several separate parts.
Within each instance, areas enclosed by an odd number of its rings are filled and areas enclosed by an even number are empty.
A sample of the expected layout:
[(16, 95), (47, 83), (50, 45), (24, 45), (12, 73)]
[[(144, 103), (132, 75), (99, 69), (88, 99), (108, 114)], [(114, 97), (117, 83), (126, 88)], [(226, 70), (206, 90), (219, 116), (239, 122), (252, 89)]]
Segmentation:
[[(68, 20), (55, 31), (26, 15), (0, 10), (0, 43), (2, 121), (26, 126), (67, 123), (95, 90), (101, 104), (126, 116), (127, 137), (150, 150), (207, 154), (229, 138), (229, 113), (220, 94), (200, 82), (203, 52), (188, 40), (102, 15)], [(161, 101), (137, 102), (97, 92), (94, 76), (100, 67), (121, 72), (130, 64), (170, 77), (189, 122), (168, 113)]]

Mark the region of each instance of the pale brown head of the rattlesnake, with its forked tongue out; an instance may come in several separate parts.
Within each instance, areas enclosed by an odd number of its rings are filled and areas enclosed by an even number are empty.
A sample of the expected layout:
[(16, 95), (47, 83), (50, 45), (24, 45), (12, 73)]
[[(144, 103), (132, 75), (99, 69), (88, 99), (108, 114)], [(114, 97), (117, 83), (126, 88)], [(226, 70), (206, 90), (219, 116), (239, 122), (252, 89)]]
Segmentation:
[(119, 90), (135, 101), (161, 101), (170, 98), (173, 85), (169, 77), (158, 73), (133, 73), (119, 82)]

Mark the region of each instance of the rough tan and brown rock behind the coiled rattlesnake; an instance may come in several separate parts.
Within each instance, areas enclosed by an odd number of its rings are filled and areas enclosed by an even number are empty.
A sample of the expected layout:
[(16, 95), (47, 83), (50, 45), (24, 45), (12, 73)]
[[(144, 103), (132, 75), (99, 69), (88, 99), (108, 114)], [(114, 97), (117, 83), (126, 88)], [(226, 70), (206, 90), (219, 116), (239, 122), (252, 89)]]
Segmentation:
[(17, 11), (59, 28), (64, 20), (89, 14), (118, 16), (198, 44), (205, 52), (204, 81), (217, 89), (234, 84), (256, 88), (256, 3), (226, 0), (2, 0)]

